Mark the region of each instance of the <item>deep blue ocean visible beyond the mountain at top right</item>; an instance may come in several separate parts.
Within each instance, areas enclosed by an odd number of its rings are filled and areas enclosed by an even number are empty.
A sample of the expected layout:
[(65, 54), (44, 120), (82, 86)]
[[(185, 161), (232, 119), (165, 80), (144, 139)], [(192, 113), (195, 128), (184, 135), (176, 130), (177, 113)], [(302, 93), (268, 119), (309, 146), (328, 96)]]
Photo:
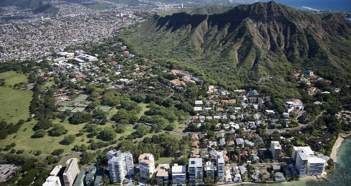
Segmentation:
[[(270, 0), (235, 0), (243, 4), (255, 2), (269, 2)], [(274, 0), (297, 9), (303, 10), (325, 10), (325, 11), (351, 11), (351, 0)]]

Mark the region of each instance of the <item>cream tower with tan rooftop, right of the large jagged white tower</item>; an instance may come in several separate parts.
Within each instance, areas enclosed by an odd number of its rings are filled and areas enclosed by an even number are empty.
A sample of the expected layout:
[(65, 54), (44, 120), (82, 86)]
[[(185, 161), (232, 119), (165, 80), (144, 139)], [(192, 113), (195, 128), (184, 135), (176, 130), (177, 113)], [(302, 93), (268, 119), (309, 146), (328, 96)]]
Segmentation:
[(152, 154), (144, 153), (139, 156), (139, 172), (141, 178), (147, 179), (147, 174), (151, 173), (149, 178), (155, 172), (155, 160)]

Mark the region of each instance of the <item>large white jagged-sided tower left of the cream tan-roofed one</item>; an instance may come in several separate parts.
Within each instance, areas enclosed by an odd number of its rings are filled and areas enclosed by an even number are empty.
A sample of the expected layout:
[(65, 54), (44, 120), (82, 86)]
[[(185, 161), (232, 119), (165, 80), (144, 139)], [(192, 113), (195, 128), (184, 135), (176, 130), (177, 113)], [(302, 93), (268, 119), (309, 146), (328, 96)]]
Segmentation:
[(107, 153), (107, 159), (111, 182), (120, 184), (126, 175), (134, 174), (131, 151), (121, 153), (121, 151), (111, 150)]

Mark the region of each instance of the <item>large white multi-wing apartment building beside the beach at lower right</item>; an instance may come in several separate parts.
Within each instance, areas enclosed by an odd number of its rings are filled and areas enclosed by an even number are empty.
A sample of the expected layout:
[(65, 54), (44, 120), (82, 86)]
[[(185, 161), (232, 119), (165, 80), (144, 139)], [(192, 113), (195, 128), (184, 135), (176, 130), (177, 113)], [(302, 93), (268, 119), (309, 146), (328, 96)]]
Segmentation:
[(295, 154), (295, 167), (300, 177), (321, 175), (327, 166), (327, 160), (314, 156), (310, 147), (294, 147), (293, 157)]

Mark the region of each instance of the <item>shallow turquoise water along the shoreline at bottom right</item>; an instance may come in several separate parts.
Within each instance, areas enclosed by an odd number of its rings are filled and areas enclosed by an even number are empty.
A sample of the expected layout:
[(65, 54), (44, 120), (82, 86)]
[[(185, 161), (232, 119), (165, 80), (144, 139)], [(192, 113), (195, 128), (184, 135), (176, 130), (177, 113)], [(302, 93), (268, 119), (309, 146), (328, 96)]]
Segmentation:
[(277, 184), (247, 184), (247, 186), (351, 186), (351, 138), (346, 139), (339, 147), (335, 170), (325, 178), (332, 182), (320, 179), (300, 179), (299, 181), (282, 182)]

